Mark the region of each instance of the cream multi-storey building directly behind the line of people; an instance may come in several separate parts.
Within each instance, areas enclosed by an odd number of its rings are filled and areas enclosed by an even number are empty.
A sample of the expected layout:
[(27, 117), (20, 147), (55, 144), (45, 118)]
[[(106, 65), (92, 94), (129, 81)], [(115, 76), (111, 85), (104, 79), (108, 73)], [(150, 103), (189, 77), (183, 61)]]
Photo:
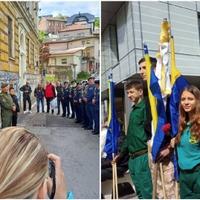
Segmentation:
[(56, 79), (76, 79), (81, 71), (92, 74), (99, 71), (99, 37), (89, 36), (73, 40), (50, 39), (45, 42), (49, 48), (47, 73)]

